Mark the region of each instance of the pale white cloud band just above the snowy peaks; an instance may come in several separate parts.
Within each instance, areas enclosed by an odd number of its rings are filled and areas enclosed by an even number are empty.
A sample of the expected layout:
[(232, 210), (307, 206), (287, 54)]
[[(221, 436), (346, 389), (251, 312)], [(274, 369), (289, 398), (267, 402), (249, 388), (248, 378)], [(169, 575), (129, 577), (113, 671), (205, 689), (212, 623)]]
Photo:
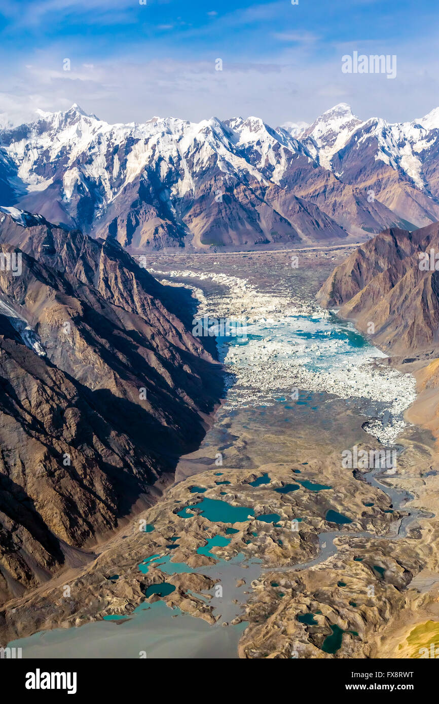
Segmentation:
[[(63, 71), (65, 54), (51, 46), (45, 54), (23, 56), (16, 73), (1, 72), (1, 119), (17, 123), (36, 108), (58, 111), (78, 103), (109, 122), (141, 122), (152, 115), (194, 121), (211, 115), (260, 115), (276, 127), (285, 121), (312, 122), (340, 101), (350, 103), (360, 118), (381, 115), (390, 121), (413, 120), (439, 103), (439, 59), (428, 42), (422, 54), (412, 44), (395, 50), (390, 40), (350, 42), (330, 46), (328, 58), (322, 58), (320, 43), (317, 51), (311, 41), (280, 46), (278, 55), (266, 62), (223, 56), (222, 71), (215, 70), (221, 54), (212, 53), (211, 61), (147, 61), (134, 50), (130, 60), (100, 62), (96, 57), (77, 60), (73, 52), (71, 70)], [(341, 57), (354, 49), (396, 53), (397, 78), (342, 74)]]

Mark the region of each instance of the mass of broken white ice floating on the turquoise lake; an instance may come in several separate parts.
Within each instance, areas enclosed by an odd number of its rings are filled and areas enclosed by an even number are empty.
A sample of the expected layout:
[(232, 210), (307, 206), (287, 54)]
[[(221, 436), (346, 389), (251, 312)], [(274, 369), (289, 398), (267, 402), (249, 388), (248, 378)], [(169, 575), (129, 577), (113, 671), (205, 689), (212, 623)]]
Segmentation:
[[(295, 389), (325, 391), (347, 400), (366, 399), (378, 403), (383, 414), (387, 411), (385, 418), (369, 420), (365, 427), (384, 444), (392, 444), (402, 431), (402, 414), (416, 398), (414, 377), (380, 364), (383, 352), (316, 301), (270, 294), (221, 272), (149, 271), (173, 282), (194, 279), (194, 285), (185, 285), (196, 288), (199, 315), (247, 320), (245, 340), (218, 341), (221, 360), (233, 375), (226, 407), (269, 406), (290, 398)], [(206, 280), (218, 284), (221, 293), (199, 289)]]

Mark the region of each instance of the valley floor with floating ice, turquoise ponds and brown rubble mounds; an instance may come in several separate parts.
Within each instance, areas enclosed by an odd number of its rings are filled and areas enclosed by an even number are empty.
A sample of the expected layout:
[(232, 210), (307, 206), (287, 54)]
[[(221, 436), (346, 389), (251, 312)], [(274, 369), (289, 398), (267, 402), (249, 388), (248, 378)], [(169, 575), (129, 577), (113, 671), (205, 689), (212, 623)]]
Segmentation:
[[(420, 656), (439, 621), (436, 392), (414, 401), (411, 367), (316, 306), (346, 255), (147, 257), (200, 315), (246, 318), (248, 339), (218, 341), (225, 402), (156, 505), (8, 604), (23, 657)], [(343, 467), (354, 446), (393, 448), (396, 466)]]

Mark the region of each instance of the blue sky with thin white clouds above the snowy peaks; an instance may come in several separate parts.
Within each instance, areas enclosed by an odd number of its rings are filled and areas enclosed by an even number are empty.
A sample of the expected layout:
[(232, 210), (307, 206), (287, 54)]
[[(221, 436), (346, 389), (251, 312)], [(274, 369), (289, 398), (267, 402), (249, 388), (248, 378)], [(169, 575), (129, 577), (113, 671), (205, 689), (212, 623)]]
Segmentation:
[[(438, 16), (437, 0), (0, 0), (0, 115), (76, 102), (110, 122), (276, 126), (347, 102), (412, 120), (439, 106)], [(342, 74), (352, 51), (396, 54), (396, 79)]]

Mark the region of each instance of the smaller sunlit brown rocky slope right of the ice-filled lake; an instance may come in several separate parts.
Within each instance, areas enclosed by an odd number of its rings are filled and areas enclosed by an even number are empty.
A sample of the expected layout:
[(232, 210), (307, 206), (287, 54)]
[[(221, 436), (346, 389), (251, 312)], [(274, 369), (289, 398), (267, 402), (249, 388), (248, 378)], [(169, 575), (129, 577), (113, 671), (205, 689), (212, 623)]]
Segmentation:
[(439, 252), (437, 223), (415, 232), (386, 230), (338, 266), (317, 298), (393, 354), (436, 353), (439, 272), (421, 264), (431, 252)]

